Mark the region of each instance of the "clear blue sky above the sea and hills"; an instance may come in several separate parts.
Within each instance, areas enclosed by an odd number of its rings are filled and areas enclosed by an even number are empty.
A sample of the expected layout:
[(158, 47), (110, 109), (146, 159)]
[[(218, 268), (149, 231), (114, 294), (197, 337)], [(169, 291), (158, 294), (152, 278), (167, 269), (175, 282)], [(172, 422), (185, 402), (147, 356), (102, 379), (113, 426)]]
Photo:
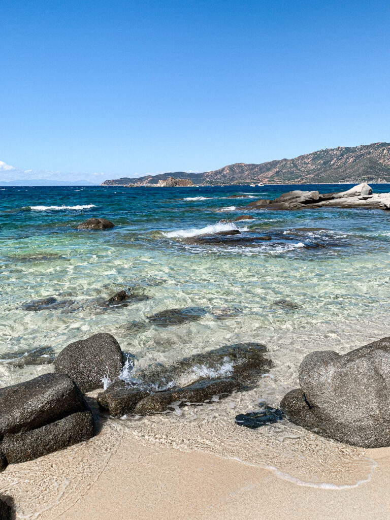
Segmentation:
[(388, 0), (3, 0), (0, 20), (0, 160), (22, 170), (101, 181), (390, 141)]

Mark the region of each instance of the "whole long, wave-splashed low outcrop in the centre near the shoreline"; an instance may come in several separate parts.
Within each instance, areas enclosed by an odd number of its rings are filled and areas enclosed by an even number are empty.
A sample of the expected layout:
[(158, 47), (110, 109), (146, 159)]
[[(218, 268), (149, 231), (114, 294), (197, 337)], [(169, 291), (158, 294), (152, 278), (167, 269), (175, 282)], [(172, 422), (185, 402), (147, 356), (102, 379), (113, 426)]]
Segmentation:
[[(136, 372), (132, 382), (114, 381), (98, 396), (111, 415), (162, 412), (177, 401), (201, 403), (214, 395), (249, 388), (271, 367), (259, 343), (238, 343), (181, 359), (171, 366), (154, 365)], [(196, 381), (179, 386), (180, 379)]]

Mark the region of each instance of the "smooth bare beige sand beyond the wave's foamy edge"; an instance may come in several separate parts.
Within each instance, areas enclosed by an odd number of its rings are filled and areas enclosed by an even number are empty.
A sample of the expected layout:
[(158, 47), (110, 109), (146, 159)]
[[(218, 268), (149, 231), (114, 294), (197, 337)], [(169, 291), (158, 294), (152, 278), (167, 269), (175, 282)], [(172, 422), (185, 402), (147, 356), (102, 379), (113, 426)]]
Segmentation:
[(261, 467), (201, 452), (145, 447), (125, 437), (75, 504), (66, 510), (62, 504), (42, 519), (388, 519), (390, 449), (369, 452), (378, 462), (370, 482), (353, 489), (315, 489)]

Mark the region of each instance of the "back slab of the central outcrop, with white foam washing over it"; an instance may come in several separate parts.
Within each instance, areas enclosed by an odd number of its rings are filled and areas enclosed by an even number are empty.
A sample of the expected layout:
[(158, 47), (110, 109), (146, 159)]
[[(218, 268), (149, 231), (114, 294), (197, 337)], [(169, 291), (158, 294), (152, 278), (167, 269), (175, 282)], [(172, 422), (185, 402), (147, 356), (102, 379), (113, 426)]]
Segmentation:
[(192, 375), (194, 379), (232, 376), (248, 384), (271, 368), (272, 363), (266, 358), (266, 353), (267, 348), (261, 343), (235, 343), (194, 354), (168, 367), (153, 365), (137, 372), (137, 378), (146, 385), (164, 386), (178, 382), (184, 375)]

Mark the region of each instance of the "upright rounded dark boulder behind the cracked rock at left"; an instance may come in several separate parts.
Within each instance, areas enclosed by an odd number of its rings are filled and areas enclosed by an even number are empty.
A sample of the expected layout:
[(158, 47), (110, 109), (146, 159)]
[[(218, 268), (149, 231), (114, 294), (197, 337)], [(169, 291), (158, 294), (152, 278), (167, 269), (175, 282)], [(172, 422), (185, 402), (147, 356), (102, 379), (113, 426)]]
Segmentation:
[(67, 374), (81, 389), (89, 392), (101, 388), (102, 378), (119, 376), (123, 355), (111, 334), (99, 333), (66, 346), (55, 361), (56, 371)]

